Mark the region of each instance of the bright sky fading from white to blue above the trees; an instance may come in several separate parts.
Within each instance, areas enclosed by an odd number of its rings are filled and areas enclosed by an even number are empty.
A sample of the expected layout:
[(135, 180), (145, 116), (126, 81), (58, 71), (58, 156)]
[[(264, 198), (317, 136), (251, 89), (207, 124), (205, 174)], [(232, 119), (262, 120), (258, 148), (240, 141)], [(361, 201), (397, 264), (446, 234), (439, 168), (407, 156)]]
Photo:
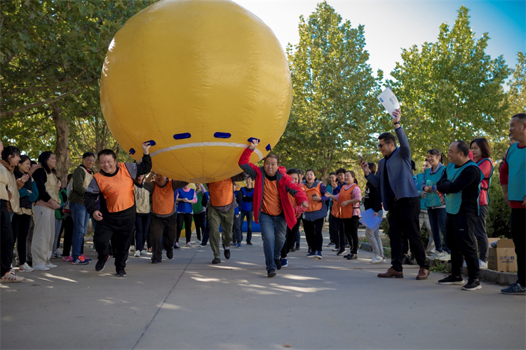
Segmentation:
[[(299, 15), (307, 18), (321, 1), (234, 0), (261, 18), (278, 37), (283, 48), (299, 41)], [(510, 67), (517, 64), (518, 51), (526, 52), (526, 0), (518, 1), (328, 1), (353, 27), (365, 25), (365, 46), (373, 70), (386, 76), (400, 62), (402, 48), (425, 41), (436, 41), (440, 25), (450, 27), (457, 10), (470, 10), (471, 28), (480, 38), (490, 35), (486, 53), (496, 58), (504, 55)], [(386, 39), (387, 37), (387, 39)]]

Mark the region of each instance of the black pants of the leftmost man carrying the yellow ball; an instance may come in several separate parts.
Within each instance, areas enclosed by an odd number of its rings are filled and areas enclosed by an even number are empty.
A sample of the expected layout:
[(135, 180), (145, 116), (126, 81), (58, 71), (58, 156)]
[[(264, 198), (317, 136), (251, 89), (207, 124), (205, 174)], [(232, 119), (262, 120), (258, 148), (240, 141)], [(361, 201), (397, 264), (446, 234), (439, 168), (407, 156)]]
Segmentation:
[(97, 222), (97, 229), (93, 235), (93, 245), (97, 250), (98, 259), (105, 259), (109, 255), (109, 241), (112, 240), (115, 269), (116, 271), (124, 269), (134, 231), (135, 214), (121, 220), (112, 220), (105, 215), (102, 221)]

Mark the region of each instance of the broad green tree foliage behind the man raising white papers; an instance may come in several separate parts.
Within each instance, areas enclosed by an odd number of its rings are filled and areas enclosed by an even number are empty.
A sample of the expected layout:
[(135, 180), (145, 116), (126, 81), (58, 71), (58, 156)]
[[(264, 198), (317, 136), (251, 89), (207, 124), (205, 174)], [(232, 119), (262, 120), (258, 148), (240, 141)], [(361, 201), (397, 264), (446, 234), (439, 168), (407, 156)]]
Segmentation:
[(451, 29), (443, 23), (438, 41), (404, 49), (391, 73), (413, 156), (430, 148), (447, 153), (454, 140), (507, 135), (502, 84), (510, 70), (502, 56), (485, 53), (490, 37), (475, 39), (468, 19), (461, 6)]

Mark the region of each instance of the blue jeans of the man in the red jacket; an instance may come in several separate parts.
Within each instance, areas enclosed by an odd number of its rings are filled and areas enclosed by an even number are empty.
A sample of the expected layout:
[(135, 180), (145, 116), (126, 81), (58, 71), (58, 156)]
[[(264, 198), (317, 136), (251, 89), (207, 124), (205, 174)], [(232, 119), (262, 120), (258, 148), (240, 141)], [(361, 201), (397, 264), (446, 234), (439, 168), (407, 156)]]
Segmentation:
[(283, 215), (268, 215), (261, 213), (259, 217), (261, 225), (261, 236), (263, 238), (263, 252), (265, 254), (265, 264), (267, 271), (276, 269), (274, 257), (281, 257), (281, 248), (285, 243), (285, 234), (287, 233), (287, 222)]

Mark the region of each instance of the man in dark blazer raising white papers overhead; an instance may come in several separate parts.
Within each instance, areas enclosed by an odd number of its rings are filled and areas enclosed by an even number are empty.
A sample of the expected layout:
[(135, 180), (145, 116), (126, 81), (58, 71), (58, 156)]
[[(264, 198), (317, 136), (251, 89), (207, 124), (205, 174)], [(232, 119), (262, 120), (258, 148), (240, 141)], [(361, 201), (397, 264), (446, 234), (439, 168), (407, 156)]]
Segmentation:
[(378, 137), (378, 148), (384, 159), (378, 162), (378, 171), (373, 175), (367, 162), (360, 160), (365, 179), (373, 186), (380, 187), (384, 209), (389, 210), (389, 239), (391, 243), (392, 266), (378, 277), (403, 277), (403, 232), (409, 239), (411, 252), (417, 260), (420, 269), (417, 280), (429, 276), (429, 262), (426, 262), (426, 252), (422, 245), (419, 229), (420, 200), (414, 186), (411, 170), (411, 149), (400, 126), (400, 109), (393, 112), (393, 123), (400, 147), (396, 147), (396, 138), (391, 133), (383, 133)]

